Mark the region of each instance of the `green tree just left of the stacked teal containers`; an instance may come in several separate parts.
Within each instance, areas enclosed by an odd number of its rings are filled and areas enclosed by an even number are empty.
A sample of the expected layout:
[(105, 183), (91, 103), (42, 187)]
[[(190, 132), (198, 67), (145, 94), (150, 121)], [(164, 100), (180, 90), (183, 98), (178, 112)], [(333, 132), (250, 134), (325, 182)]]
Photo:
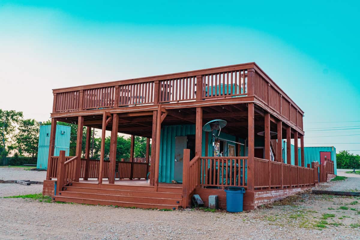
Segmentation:
[(14, 144), (11, 149), (17, 150), (21, 156), (35, 157), (39, 144), (39, 127), (40, 124), (35, 119), (21, 119), (18, 131), (13, 136)]

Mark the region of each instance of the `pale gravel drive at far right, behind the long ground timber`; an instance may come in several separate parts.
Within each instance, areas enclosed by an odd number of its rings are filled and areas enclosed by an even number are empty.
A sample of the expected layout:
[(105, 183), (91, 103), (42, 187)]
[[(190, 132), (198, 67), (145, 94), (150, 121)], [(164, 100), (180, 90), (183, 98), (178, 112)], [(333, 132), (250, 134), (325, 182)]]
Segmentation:
[[(360, 174), (345, 173), (349, 170), (337, 170), (338, 176), (347, 177), (346, 180), (325, 182), (320, 184), (316, 189), (328, 191), (356, 191), (360, 192)], [(350, 170), (352, 171), (352, 170)]]

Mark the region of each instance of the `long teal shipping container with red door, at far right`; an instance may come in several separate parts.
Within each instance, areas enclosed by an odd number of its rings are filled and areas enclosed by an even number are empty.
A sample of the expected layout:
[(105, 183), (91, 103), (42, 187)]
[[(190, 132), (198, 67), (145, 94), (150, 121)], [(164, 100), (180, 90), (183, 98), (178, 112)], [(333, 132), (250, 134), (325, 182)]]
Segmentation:
[[(291, 144), (291, 164), (295, 164), (295, 146)], [(320, 164), (320, 154), (326, 154), (330, 156), (330, 159), (334, 161), (334, 173), (337, 175), (336, 169), (336, 149), (334, 146), (328, 147), (304, 147), (304, 162), (305, 166), (311, 164), (311, 162), (318, 162)], [(299, 164), (301, 163), (301, 149), (298, 148)], [(283, 159), (287, 162), (287, 148), (286, 141), (283, 141)], [(329, 157), (328, 157), (329, 159)]]

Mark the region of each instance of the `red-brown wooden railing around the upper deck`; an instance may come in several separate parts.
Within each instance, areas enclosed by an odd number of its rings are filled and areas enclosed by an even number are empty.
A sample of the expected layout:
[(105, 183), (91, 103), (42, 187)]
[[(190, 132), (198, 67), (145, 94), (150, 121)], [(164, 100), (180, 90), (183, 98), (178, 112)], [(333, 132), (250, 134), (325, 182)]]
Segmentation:
[(256, 96), (303, 127), (303, 111), (256, 63), (54, 89), (53, 93), (53, 113)]

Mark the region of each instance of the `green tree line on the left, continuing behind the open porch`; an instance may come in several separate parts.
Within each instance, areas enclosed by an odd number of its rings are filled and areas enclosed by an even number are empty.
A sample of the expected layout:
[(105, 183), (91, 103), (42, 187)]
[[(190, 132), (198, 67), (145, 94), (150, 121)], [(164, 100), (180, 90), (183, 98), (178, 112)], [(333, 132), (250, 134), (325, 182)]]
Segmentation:
[[(0, 109), (0, 156), (37, 157), (39, 130), (41, 125), (51, 125), (51, 121), (38, 122), (35, 119), (24, 119), (22, 112)], [(69, 155), (75, 156), (77, 124), (58, 122), (58, 125), (71, 127)], [(100, 158), (101, 137), (95, 137), (91, 128), (90, 158)], [(85, 155), (86, 127), (82, 134), (82, 157)], [(131, 138), (118, 136), (116, 158), (130, 157)], [(151, 148), (150, 148), (151, 149)], [(110, 137), (105, 137), (105, 159), (109, 158)], [(146, 138), (135, 136), (134, 157), (142, 158), (146, 154)]]

